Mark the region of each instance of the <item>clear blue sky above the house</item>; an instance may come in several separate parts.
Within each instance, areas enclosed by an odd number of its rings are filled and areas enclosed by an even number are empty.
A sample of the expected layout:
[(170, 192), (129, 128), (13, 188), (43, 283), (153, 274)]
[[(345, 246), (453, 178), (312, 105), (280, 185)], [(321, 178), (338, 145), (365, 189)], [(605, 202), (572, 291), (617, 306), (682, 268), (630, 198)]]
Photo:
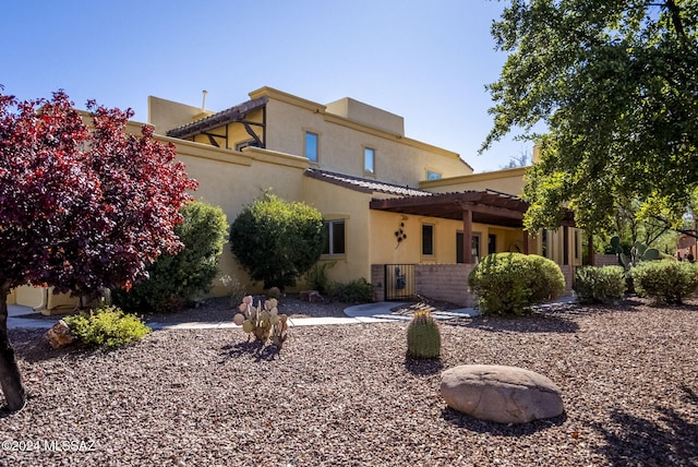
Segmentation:
[(352, 97), (405, 117), (409, 137), (496, 170), (531, 144), (492, 127), (485, 84), (506, 55), (490, 0), (146, 0), (5, 2), (0, 84), (20, 99), (64, 89), (147, 120), (147, 96), (222, 110), (272, 86), (327, 104)]

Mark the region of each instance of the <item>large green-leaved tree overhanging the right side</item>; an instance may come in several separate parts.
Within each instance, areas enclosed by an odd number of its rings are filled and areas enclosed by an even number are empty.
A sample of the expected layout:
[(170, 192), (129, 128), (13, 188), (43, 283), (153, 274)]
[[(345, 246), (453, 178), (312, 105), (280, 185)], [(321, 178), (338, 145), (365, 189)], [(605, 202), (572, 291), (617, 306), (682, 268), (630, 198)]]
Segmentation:
[(683, 213), (698, 188), (698, 0), (512, 0), (492, 33), (509, 56), (482, 149), (514, 127), (539, 142), (527, 228), (557, 226), (565, 203), (591, 230), (621, 199)]

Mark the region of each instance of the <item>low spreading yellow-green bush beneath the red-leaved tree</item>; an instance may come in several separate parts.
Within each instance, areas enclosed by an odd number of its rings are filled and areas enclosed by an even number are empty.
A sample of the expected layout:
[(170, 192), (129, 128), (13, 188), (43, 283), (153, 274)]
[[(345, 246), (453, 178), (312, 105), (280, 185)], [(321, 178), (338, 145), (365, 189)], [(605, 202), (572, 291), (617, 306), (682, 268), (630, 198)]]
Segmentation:
[(137, 316), (117, 307), (100, 307), (88, 315), (65, 316), (63, 321), (82, 343), (107, 348), (124, 346), (152, 331)]

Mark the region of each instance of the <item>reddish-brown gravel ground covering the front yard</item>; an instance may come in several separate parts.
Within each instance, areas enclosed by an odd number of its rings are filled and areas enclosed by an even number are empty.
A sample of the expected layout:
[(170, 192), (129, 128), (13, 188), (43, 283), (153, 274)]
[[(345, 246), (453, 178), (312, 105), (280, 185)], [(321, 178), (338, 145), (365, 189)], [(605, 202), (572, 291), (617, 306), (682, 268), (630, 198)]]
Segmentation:
[[(29, 402), (0, 416), (0, 441), (16, 441), (0, 464), (698, 465), (698, 302), (444, 323), (438, 362), (406, 360), (405, 332), (299, 326), (277, 352), (240, 330), (156, 331), (104, 352), (52, 351), (41, 332), (12, 330)], [(440, 373), (466, 363), (549, 376), (565, 415), (505, 426), (449, 409)]]

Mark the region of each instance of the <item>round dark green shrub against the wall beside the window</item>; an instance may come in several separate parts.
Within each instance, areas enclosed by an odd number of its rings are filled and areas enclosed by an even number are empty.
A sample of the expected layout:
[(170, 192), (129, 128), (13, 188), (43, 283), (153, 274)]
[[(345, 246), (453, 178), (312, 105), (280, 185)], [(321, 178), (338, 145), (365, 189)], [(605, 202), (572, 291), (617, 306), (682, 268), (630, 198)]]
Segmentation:
[(230, 226), (230, 249), (264, 288), (294, 286), (320, 260), (323, 216), (301, 202), (266, 193), (245, 206)]

